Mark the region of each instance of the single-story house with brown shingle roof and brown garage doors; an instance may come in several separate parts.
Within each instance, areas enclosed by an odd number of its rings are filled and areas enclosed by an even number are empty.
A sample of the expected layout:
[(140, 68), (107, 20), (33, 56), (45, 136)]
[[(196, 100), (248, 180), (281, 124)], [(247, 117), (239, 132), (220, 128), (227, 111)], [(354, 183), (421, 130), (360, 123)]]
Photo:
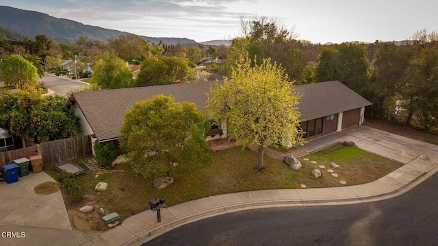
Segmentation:
[[(92, 135), (97, 141), (112, 141), (120, 136), (125, 112), (140, 100), (151, 99), (157, 94), (173, 96), (177, 102), (194, 102), (204, 111), (209, 87), (214, 82), (156, 85), (116, 90), (73, 93), (75, 112), (81, 118), (83, 135)], [(365, 107), (371, 102), (350, 90), (339, 81), (312, 83), (294, 87), (301, 94), (298, 111), (300, 125), (307, 139), (320, 137), (344, 128), (362, 124)], [(221, 131), (207, 133), (207, 140), (227, 137), (227, 124), (222, 122)]]

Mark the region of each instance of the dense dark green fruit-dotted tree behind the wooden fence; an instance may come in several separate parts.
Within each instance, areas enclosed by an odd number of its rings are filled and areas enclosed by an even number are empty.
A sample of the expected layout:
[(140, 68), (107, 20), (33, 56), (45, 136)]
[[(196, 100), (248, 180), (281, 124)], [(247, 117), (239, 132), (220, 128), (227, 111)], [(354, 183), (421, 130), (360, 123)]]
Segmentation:
[(36, 92), (3, 93), (0, 126), (35, 143), (73, 137), (80, 133), (79, 117), (62, 96)]

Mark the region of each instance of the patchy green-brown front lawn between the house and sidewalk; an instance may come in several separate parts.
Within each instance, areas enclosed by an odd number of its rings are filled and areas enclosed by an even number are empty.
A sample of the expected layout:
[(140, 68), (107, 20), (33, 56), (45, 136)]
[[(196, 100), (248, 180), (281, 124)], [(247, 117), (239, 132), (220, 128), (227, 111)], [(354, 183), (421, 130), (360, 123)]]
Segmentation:
[[(333, 151), (331, 151), (333, 150)], [(106, 230), (107, 227), (99, 217), (83, 217), (77, 212), (81, 206), (94, 204), (103, 207), (107, 213), (117, 212), (121, 219), (149, 209), (148, 201), (152, 198), (166, 199), (167, 206), (187, 202), (209, 195), (252, 191), (261, 189), (294, 189), (305, 184), (308, 188), (342, 186), (339, 180), (345, 180), (347, 185), (372, 182), (398, 169), (402, 164), (384, 159), (359, 148), (342, 147), (331, 148), (326, 154), (318, 152), (300, 158), (302, 169), (294, 171), (282, 161), (265, 156), (263, 166), (259, 171), (257, 166), (257, 152), (242, 150), (240, 147), (211, 152), (214, 163), (204, 169), (185, 174), (172, 173), (175, 182), (162, 190), (153, 187), (151, 180), (134, 174), (129, 164), (117, 165), (114, 169), (123, 169), (124, 172), (111, 174), (95, 174), (84, 165), (87, 159), (77, 160), (75, 163), (86, 169), (86, 174), (77, 177), (84, 193), (84, 200), (72, 204), (66, 199), (66, 207), (76, 230)], [(304, 161), (307, 158), (309, 161)], [(311, 164), (310, 161), (317, 161)], [(334, 161), (339, 165), (334, 169), (338, 178), (333, 177), (326, 170)], [(324, 165), (320, 178), (314, 178), (312, 170)], [(94, 187), (100, 181), (107, 182), (107, 191), (96, 192)], [(84, 224), (90, 224), (89, 227)]]

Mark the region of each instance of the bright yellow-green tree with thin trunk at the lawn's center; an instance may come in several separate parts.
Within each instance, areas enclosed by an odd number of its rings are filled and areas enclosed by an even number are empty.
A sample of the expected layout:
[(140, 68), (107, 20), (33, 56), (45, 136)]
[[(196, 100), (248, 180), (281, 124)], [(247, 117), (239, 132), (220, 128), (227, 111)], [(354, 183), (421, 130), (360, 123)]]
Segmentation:
[(230, 80), (211, 88), (206, 107), (216, 122), (227, 120), (231, 139), (257, 146), (257, 168), (262, 169), (265, 148), (302, 141), (296, 109), (299, 97), (283, 68), (269, 59), (251, 66), (246, 59), (237, 64)]

